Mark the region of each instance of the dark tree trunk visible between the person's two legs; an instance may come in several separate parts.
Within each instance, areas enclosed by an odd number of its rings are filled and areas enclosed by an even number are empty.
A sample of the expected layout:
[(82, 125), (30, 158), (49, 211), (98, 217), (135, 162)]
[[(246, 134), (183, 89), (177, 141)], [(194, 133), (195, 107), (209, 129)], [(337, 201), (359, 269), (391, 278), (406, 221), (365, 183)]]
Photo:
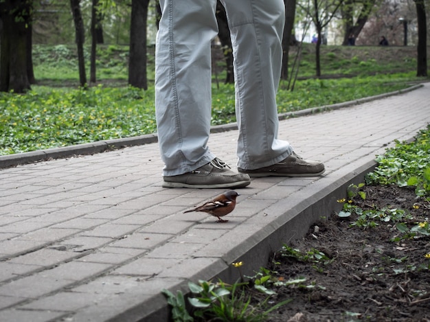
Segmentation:
[(229, 25), (227, 23), (227, 14), (224, 6), (220, 1), (216, 1), (216, 22), (218, 23), (218, 38), (220, 38), (221, 47), (225, 58), (225, 68), (227, 76), (225, 84), (234, 83), (234, 67), (233, 67), (233, 48), (231, 47), (231, 38)]

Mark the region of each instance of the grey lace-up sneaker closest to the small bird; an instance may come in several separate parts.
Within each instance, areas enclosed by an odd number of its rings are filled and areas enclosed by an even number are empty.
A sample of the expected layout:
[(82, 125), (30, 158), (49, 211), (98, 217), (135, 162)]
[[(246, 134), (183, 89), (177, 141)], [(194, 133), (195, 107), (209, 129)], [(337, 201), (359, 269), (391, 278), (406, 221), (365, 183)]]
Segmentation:
[(248, 174), (240, 174), (229, 170), (227, 163), (218, 158), (202, 167), (179, 174), (179, 176), (163, 176), (163, 187), (169, 188), (242, 188), (251, 183)]

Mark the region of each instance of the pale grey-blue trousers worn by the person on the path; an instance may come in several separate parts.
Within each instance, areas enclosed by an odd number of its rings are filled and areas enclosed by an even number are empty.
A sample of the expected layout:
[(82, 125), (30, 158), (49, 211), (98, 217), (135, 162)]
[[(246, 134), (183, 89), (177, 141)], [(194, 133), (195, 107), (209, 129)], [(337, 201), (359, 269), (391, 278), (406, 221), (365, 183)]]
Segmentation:
[[(276, 92), (282, 64), (284, 1), (223, 0), (234, 53), (238, 167), (258, 169), (292, 152), (278, 139)], [(218, 33), (216, 0), (160, 0), (155, 51), (155, 107), (164, 176), (214, 159), (211, 41)]]

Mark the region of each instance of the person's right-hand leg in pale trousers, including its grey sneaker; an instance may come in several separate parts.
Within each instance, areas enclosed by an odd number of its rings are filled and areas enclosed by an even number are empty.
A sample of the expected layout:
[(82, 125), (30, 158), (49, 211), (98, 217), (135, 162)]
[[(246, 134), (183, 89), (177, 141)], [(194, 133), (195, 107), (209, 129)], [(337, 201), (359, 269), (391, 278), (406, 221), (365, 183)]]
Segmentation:
[[(234, 51), (238, 168), (239, 172), (260, 170), (294, 155), (291, 145), (278, 139), (276, 93), (282, 65), (284, 1), (223, 0), (223, 4)], [(300, 175), (321, 172), (322, 163), (302, 160), (305, 167), (297, 169), (297, 160), (294, 157), (293, 172)], [(317, 168), (316, 164), (319, 164)], [(275, 172), (286, 175), (282, 170)], [(291, 169), (287, 172), (295, 174)], [(273, 172), (264, 170), (262, 175), (273, 175)]]

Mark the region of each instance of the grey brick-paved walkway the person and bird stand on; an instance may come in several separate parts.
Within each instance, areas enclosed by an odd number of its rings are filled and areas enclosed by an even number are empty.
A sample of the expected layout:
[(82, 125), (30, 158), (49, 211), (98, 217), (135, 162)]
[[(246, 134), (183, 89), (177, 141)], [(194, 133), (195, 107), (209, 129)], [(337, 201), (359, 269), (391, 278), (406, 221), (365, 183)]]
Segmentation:
[[(326, 174), (253, 179), (224, 224), (183, 214), (220, 190), (162, 188), (157, 143), (0, 170), (0, 321), (165, 321), (161, 289), (235, 281), (238, 260), (252, 274), (270, 251), (339, 211), (336, 200), (362, 182), (375, 154), (429, 122), (430, 83), (283, 120), (280, 137), (324, 161)], [(231, 165), (236, 137), (210, 138)]]

